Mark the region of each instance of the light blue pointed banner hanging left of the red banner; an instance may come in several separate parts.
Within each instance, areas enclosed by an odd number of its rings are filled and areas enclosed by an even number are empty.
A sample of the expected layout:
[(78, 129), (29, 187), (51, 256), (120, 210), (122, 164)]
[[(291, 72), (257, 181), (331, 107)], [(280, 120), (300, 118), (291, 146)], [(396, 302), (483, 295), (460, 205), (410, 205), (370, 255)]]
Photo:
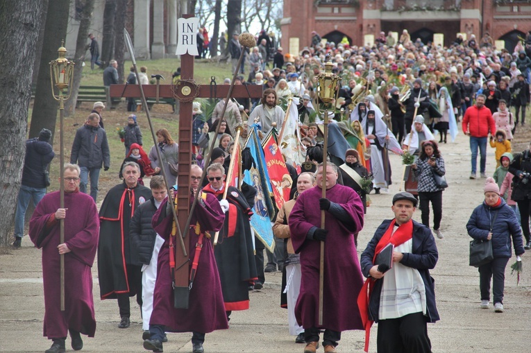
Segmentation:
[(254, 164), (251, 170), (244, 171), (244, 182), (256, 189), (255, 205), (253, 216), (251, 216), (251, 227), (255, 231), (258, 239), (264, 243), (272, 252), (275, 248), (273, 230), (271, 229), (271, 217), (274, 216), (275, 209), (271, 201), (271, 182), (267, 173), (264, 150), (257, 135), (258, 125), (251, 126), (246, 145), (251, 150)]

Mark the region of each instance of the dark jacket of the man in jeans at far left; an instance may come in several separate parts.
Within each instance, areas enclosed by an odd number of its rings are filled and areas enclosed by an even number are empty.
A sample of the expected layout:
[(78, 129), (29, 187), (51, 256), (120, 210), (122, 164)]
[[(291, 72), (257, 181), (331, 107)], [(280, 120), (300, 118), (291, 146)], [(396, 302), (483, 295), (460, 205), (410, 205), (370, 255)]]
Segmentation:
[(26, 141), (26, 157), (24, 157), (24, 169), (22, 170), (22, 185), (44, 189), (44, 171), (53, 160), (53, 150), (46, 141), (28, 139)]

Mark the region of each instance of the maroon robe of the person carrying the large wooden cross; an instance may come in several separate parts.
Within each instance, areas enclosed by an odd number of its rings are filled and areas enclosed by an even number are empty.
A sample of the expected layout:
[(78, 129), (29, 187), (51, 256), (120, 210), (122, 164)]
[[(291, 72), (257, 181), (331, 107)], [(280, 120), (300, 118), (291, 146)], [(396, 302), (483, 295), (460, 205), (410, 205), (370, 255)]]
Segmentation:
[[(173, 224), (171, 212), (166, 212), (167, 199), (162, 202), (153, 216), (153, 229), (165, 239), (160, 248), (157, 264), (157, 281), (153, 293), (153, 312), (150, 325), (164, 325), (167, 332), (201, 332), (203, 334), (216, 329), (228, 329), (227, 316), (217, 272), (214, 250), (210, 239), (203, 239), (203, 249), (199, 256), (194, 284), (190, 291), (188, 309), (174, 308), (173, 279), (169, 268), (169, 234)], [(205, 205), (197, 203), (192, 216), (191, 225), (199, 221), (201, 232), (211, 231), (212, 234), (221, 229), (224, 213), (219, 201), (207, 194)], [(185, 244), (188, 244), (190, 263), (194, 259), (196, 243), (199, 235), (190, 228)], [(174, 236), (174, 244), (178, 240)], [(178, 248), (178, 245), (177, 245)]]

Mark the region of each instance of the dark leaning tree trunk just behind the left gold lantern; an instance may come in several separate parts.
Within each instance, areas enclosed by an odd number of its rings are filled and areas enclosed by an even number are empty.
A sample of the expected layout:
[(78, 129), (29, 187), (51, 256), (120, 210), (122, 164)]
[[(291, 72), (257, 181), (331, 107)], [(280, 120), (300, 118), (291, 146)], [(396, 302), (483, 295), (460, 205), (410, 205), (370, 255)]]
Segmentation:
[[(58, 57), (57, 49), (67, 37), (69, 0), (53, 0), (48, 3), (48, 15), (44, 28), (44, 41), (40, 55), (39, 76), (35, 91), (35, 102), (31, 114), (29, 137), (39, 136), (42, 128), (51, 131), (55, 137), (58, 102), (53, 99), (50, 83), (50, 62)], [(72, 51), (70, 51), (72, 52)], [(28, 62), (24, 59), (24, 62)]]

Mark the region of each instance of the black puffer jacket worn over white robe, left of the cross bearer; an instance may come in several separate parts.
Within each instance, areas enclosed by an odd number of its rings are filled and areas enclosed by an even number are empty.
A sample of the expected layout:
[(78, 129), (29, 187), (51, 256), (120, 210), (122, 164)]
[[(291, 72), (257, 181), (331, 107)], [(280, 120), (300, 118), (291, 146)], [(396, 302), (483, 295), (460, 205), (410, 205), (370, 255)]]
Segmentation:
[(153, 197), (135, 209), (129, 223), (129, 236), (137, 251), (141, 264), (149, 265), (157, 233), (151, 227), (151, 218), (157, 212)]

